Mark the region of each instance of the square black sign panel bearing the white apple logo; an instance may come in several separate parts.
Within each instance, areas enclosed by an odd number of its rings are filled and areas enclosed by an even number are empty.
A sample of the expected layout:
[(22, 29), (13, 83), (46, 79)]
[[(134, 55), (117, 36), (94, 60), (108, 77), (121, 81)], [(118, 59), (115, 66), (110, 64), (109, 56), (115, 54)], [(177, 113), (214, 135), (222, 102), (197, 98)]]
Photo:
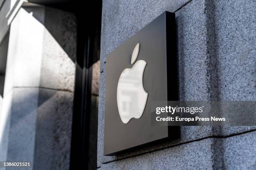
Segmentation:
[(104, 155), (172, 136), (151, 102), (177, 100), (175, 14), (165, 12), (107, 56)]

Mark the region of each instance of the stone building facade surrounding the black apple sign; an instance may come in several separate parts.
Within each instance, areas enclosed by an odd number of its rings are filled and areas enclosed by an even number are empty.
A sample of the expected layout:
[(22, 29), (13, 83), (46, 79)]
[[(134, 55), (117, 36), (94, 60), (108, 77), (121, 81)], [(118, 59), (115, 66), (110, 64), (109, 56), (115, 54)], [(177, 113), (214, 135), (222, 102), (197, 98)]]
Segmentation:
[(256, 100), (255, 0), (0, 0), (0, 161), (256, 169), (255, 126), (181, 126), (175, 140), (103, 155), (106, 57), (165, 11), (176, 15), (179, 100)]

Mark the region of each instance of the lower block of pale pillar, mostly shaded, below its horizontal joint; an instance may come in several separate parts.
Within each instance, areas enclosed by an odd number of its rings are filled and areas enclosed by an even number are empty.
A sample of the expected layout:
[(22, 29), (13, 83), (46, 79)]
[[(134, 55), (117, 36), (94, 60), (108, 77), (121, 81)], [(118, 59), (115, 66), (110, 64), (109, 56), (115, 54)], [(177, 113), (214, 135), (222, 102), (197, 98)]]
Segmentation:
[(30, 161), (30, 169), (68, 170), (72, 112), (72, 92), (13, 88), (0, 117), (1, 160)]

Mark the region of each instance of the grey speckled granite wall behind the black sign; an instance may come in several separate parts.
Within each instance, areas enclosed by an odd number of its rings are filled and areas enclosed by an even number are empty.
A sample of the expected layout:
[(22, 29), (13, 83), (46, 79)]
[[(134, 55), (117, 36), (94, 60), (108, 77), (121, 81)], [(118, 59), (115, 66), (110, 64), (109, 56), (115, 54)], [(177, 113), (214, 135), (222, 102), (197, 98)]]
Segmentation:
[(179, 100), (256, 100), (254, 0), (104, 0), (97, 167), (255, 169), (249, 126), (183, 126), (177, 140), (103, 156), (106, 55), (166, 10), (176, 14)]

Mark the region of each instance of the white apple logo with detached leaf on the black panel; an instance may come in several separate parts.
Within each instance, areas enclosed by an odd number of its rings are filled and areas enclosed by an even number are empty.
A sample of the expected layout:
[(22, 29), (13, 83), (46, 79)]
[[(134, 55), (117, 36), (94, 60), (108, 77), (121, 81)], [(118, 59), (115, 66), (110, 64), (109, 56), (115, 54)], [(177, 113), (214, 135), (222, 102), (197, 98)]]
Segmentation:
[[(138, 43), (131, 57), (133, 64), (139, 53)], [(117, 87), (118, 112), (123, 123), (128, 123), (131, 118), (140, 118), (143, 114), (148, 93), (143, 88), (143, 72), (146, 61), (138, 60), (132, 68), (125, 68), (120, 75)]]

